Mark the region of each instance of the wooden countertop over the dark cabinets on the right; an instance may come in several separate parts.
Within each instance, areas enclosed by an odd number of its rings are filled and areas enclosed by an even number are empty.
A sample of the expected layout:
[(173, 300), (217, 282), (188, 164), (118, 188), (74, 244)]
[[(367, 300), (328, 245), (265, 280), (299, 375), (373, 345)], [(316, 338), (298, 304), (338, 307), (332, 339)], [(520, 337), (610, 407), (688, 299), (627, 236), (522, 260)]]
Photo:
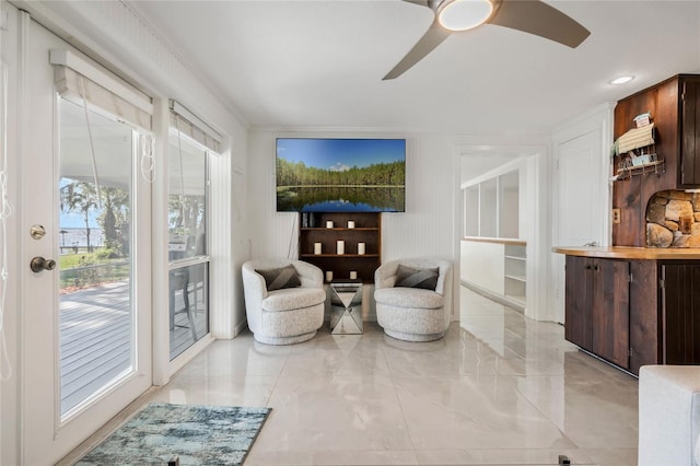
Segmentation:
[(552, 252), (568, 256), (599, 257), (607, 259), (697, 259), (700, 260), (700, 247), (552, 247)]

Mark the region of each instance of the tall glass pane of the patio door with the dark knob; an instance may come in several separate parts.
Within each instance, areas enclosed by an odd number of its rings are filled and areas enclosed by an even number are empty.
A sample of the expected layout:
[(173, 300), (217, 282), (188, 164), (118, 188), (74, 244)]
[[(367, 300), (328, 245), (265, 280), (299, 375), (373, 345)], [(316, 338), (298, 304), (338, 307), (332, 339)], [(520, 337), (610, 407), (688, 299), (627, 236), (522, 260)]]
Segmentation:
[(139, 135), (92, 110), (85, 115), (84, 106), (65, 98), (58, 110), (59, 375), (66, 418), (136, 368), (131, 212)]

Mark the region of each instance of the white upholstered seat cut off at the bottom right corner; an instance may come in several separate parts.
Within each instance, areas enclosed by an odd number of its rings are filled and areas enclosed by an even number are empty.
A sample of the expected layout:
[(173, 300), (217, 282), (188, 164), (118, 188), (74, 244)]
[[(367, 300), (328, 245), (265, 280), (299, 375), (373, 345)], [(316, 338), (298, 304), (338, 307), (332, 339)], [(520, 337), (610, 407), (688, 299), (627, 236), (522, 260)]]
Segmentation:
[(639, 372), (640, 466), (700, 465), (700, 368), (643, 365)]

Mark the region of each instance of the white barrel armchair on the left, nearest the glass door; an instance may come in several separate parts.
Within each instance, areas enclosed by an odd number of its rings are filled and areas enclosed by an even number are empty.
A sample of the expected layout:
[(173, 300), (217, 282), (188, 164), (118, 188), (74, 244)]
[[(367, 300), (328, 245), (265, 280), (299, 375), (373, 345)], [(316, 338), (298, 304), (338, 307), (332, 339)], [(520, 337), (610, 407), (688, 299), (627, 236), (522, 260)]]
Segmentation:
[[(291, 288), (279, 288), (290, 273), (278, 273), (280, 278), (276, 280), (271, 271), (290, 265), (296, 271), (292, 271), (291, 278), (298, 280)], [(243, 289), (248, 327), (261, 343), (306, 341), (314, 338), (324, 323), (323, 271), (314, 265), (292, 259), (249, 260), (243, 265)]]

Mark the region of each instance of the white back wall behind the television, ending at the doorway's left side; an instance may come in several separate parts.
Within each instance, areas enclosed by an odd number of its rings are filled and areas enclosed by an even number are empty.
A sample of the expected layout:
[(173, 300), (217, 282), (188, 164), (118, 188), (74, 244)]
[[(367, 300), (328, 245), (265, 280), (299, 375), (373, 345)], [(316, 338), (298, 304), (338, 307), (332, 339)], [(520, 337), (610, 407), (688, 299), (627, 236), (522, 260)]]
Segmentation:
[[(296, 255), (298, 214), (276, 212), (275, 141), (278, 137), (406, 138), (406, 212), (382, 214), (382, 260), (432, 256), (453, 264), (458, 261), (455, 237), (458, 219), (454, 217), (454, 202), (459, 194), (459, 165), (455, 165), (451, 137), (323, 129), (250, 133), (248, 210), (253, 257), (287, 257), (290, 251), (291, 256)], [(454, 289), (458, 290), (457, 272), (454, 277)], [(363, 314), (369, 319), (376, 318), (372, 310)]]

